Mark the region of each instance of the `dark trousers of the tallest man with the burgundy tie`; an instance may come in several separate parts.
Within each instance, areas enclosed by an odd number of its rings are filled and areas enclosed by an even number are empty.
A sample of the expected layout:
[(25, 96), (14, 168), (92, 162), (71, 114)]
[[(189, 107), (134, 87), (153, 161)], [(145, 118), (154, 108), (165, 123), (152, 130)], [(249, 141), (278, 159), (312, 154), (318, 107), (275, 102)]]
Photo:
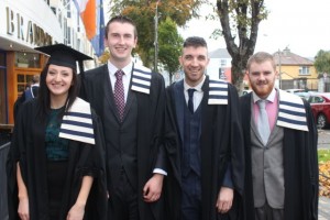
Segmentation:
[(109, 195), (108, 216), (111, 220), (139, 220), (138, 193), (122, 169), (120, 180)]

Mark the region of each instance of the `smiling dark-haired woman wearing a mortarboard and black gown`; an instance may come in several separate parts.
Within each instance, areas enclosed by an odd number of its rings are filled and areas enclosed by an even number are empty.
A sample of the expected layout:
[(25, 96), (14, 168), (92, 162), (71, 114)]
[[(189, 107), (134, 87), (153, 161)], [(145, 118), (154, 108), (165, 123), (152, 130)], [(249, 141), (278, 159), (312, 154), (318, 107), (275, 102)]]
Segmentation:
[(35, 50), (51, 57), (38, 97), (15, 121), (7, 166), (10, 219), (106, 219), (102, 129), (77, 98), (76, 61), (90, 57), (64, 44)]

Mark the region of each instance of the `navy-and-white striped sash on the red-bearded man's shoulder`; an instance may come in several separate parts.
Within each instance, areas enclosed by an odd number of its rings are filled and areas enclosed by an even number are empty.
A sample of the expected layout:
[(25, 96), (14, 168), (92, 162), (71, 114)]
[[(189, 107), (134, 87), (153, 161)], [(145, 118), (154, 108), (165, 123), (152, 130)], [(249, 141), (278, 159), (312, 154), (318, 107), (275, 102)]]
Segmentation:
[(307, 116), (300, 97), (279, 91), (279, 106), (276, 125), (300, 131), (308, 131)]

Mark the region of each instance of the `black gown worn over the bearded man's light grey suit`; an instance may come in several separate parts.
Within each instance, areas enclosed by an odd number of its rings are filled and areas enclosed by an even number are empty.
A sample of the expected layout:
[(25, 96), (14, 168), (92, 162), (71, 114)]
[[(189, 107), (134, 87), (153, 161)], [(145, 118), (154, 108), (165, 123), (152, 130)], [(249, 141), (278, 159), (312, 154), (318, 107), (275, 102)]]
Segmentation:
[[(252, 94), (241, 97), (241, 113), (245, 142), (245, 215), (246, 220), (254, 220), (251, 158), (251, 99)], [(307, 113), (308, 132), (284, 128), (284, 219), (318, 219), (318, 133), (310, 106), (304, 100)]]

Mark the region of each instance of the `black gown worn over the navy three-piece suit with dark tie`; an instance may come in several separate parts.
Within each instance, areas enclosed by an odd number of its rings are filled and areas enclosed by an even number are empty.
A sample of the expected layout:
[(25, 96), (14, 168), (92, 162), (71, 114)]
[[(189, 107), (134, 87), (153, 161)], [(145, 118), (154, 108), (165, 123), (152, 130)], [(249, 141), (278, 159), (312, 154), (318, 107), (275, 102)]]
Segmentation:
[[(208, 105), (209, 78), (205, 79), (201, 100), (201, 206), (202, 220), (242, 219), (244, 153), (243, 136), (239, 114), (239, 98), (235, 88), (228, 85), (228, 105)], [(180, 155), (183, 143), (183, 112), (185, 101), (178, 100), (184, 94), (183, 81), (175, 82), (166, 89), (165, 146), (169, 164), (166, 178), (168, 219), (180, 219)], [(219, 190), (222, 186), (228, 163), (232, 166), (234, 202), (229, 215), (219, 215), (216, 209)]]

